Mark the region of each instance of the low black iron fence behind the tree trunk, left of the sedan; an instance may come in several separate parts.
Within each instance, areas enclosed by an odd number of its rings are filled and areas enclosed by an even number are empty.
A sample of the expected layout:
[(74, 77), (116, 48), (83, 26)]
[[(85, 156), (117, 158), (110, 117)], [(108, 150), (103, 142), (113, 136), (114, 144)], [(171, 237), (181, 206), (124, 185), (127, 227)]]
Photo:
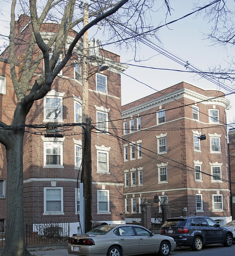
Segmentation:
[[(26, 246), (64, 244), (69, 239), (69, 223), (26, 223), (24, 229)], [(4, 246), (5, 232), (0, 232), (0, 247)]]

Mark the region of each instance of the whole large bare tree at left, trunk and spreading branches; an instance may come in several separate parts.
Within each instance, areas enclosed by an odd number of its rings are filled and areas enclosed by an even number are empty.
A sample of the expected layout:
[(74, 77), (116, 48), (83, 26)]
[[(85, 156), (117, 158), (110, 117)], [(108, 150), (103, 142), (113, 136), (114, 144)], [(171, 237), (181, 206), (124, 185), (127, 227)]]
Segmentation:
[[(151, 12), (155, 12), (152, 0), (91, 0), (89, 4), (90, 22), (82, 27), (83, 17), (80, 8), (81, 1), (76, 0), (21, 0), (20, 6), (28, 19), (27, 26), (31, 29), (31, 35), (26, 42), (19, 39), (15, 29), (15, 9), (17, 0), (12, 1), (10, 35), (9, 35), (9, 59), (10, 72), (14, 91), (17, 97), (17, 106), (14, 110), (12, 124), (7, 125), (0, 121), (3, 129), (0, 129), (0, 143), (5, 146), (7, 155), (7, 229), (5, 236), (5, 255), (30, 255), (25, 246), (23, 226), (23, 136), (25, 133), (26, 116), (34, 102), (42, 99), (52, 88), (52, 82), (62, 68), (71, 59), (74, 47), (82, 38), (85, 31), (102, 22), (109, 33), (109, 37), (115, 39), (117, 44), (136, 46), (138, 35), (141, 37), (155, 37), (154, 32), (146, 33), (152, 25), (148, 20)], [(169, 10), (168, 1), (162, 1)], [(58, 31), (45, 43), (40, 33), (43, 22), (57, 22)], [(65, 42), (71, 29), (77, 29), (77, 33), (69, 45)], [(74, 30), (73, 30), (74, 31)], [(144, 34), (143, 34), (144, 33)], [(133, 35), (131, 37), (130, 35)], [(126, 39), (128, 38), (128, 39)], [(49, 51), (53, 46), (53, 54), (50, 58)], [(25, 54), (20, 60), (20, 76), (16, 73), (15, 56), (17, 47), (24, 47)], [(61, 51), (64, 52), (63, 60), (59, 64)], [(3, 53), (4, 54), (4, 53)], [(41, 61), (44, 61), (44, 72), (35, 77), (35, 71)], [(19, 59), (18, 59), (19, 61)]]

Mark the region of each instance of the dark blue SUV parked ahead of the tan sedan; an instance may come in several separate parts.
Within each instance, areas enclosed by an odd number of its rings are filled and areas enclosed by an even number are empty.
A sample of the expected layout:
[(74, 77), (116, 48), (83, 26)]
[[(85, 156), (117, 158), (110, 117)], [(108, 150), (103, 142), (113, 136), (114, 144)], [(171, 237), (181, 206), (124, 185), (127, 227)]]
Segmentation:
[(167, 219), (161, 227), (161, 235), (171, 236), (178, 246), (191, 246), (194, 251), (200, 251), (205, 244), (231, 246), (233, 240), (230, 229), (206, 216)]

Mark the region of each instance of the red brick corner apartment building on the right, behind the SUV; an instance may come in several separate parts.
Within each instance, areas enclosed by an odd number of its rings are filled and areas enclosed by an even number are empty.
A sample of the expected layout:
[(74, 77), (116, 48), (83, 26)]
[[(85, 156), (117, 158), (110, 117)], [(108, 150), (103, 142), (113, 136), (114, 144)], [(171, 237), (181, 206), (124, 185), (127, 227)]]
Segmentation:
[[(140, 204), (167, 200), (171, 216), (231, 219), (226, 109), (219, 90), (180, 82), (122, 108), (124, 202), (127, 222)], [(198, 137), (206, 135), (206, 140)], [(161, 205), (153, 203), (154, 213)]]

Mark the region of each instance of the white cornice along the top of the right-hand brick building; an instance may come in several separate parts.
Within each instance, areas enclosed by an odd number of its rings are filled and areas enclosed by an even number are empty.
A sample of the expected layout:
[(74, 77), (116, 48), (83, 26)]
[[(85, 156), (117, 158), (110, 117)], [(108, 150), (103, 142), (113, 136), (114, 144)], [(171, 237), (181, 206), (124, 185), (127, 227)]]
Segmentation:
[(226, 109), (231, 108), (230, 106), (230, 101), (225, 98), (216, 98), (213, 99), (213, 97), (207, 97), (205, 95), (202, 95), (200, 93), (196, 93), (195, 91), (189, 90), (187, 88), (180, 89), (178, 91), (174, 91), (172, 93), (169, 93), (167, 95), (163, 95), (162, 97), (159, 97), (157, 99), (153, 99), (152, 101), (148, 101), (146, 103), (142, 103), (138, 106), (129, 108), (128, 110), (124, 110), (121, 114), (123, 118), (131, 116), (133, 114), (138, 114), (142, 111), (149, 110), (151, 108), (160, 106), (162, 104), (174, 101), (174, 99), (179, 99), (179, 98), (188, 98), (192, 99), (193, 101), (204, 101), (201, 102), (202, 104), (217, 104), (220, 106), (225, 107)]

